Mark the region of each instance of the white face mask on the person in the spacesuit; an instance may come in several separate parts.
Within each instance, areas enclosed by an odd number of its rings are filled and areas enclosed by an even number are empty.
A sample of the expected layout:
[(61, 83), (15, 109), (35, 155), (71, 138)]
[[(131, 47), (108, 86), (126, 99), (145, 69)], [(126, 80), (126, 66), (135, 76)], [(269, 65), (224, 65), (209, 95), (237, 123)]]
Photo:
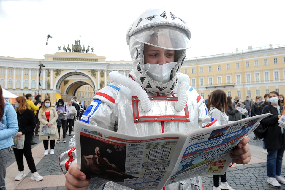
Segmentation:
[(146, 74), (153, 80), (158, 82), (167, 83), (170, 81), (170, 75), (176, 62), (170, 62), (163, 65), (159, 64), (144, 64)]

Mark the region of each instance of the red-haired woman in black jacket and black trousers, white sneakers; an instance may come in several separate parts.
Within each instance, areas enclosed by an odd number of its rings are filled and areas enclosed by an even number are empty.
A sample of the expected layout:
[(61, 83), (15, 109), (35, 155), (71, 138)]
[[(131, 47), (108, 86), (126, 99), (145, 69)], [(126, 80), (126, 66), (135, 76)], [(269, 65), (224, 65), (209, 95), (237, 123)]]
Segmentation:
[(23, 149), (14, 148), (14, 154), (18, 165), (19, 173), (16, 176), (15, 180), (21, 180), (26, 177), (24, 173), (24, 162), (23, 162), (23, 154), (27, 160), (29, 169), (31, 170), (32, 176), (31, 180), (41, 181), (43, 177), (39, 175), (37, 172), (34, 158), (32, 156), (32, 145), (31, 145), (31, 137), (34, 133), (34, 128), (36, 127), (36, 117), (34, 111), (28, 109), (28, 103), (23, 96), (16, 98), (15, 108), (17, 112), (19, 132), (15, 135), (19, 137), (21, 135), (25, 135), (25, 142)]

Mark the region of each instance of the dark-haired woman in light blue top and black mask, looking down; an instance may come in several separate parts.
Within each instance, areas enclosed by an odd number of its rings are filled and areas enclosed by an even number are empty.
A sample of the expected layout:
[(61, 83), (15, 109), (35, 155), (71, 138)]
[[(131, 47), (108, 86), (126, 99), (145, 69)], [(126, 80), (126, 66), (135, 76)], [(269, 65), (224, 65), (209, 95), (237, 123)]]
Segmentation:
[[(63, 131), (62, 142), (66, 143), (65, 136), (66, 136), (66, 119), (67, 119), (67, 116), (69, 115), (68, 108), (66, 107), (66, 105), (64, 105), (63, 99), (59, 99), (57, 102), (57, 105), (54, 108), (56, 109), (56, 111), (58, 113), (58, 117), (61, 120), (61, 126), (62, 126), (62, 131)], [(57, 126), (58, 134), (60, 132), (61, 126), (59, 126), (59, 125)], [(58, 140), (56, 141), (56, 143), (60, 143), (59, 137), (58, 137)]]

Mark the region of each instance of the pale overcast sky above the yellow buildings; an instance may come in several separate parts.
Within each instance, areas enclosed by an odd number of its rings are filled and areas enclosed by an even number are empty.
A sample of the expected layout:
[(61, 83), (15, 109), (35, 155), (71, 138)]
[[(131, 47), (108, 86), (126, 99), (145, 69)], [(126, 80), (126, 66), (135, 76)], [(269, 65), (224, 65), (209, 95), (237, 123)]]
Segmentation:
[[(186, 58), (284, 44), (284, 7), (284, 0), (0, 0), (0, 56), (43, 59), (81, 36), (80, 44), (106, 61), (131, 61), (127, 29), (149, 8), (168, 9), (186, 21)], [(53, 38), (46, 45), (48, 34)]]

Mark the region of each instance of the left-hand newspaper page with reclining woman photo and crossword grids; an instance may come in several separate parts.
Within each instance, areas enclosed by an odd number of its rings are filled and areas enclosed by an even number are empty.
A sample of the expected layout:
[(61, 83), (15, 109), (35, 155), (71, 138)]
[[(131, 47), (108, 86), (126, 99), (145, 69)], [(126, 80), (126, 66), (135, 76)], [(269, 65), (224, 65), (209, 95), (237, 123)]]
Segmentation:
[(107, 181), (132, 189), (162, 189), (186, 138), (185, 132), (130, 136), (75, 121), (77, 165), (92, 178), (90, 189)]

